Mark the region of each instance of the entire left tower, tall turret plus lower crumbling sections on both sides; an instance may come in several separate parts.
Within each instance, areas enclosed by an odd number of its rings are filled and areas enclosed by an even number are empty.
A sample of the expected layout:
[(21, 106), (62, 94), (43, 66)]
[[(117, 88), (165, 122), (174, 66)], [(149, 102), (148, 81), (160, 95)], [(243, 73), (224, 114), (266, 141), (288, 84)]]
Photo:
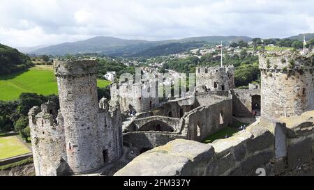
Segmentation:
[(120, 106), (105, 99), (98, 103), (96, 65), (91, 60), (54, 61), (60, 111), (44, 105), (40, 113), (36, 107), (29, 112), (34, 161), (40, 159), (36, 175), (90, 173), (121, 157)]

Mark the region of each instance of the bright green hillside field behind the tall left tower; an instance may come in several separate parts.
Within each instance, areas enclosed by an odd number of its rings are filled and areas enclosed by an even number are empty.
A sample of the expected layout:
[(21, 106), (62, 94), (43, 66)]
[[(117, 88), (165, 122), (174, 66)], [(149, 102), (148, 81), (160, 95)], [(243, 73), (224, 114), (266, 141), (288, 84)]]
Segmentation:
[[(110, 81), (97, 80), (98, 87), (105, 87)], [(57, 80), (52, 66), (38, 65), (25, 72), (0, 76), (0, 100), (17, 100), (21, 93), (57, 95)]]

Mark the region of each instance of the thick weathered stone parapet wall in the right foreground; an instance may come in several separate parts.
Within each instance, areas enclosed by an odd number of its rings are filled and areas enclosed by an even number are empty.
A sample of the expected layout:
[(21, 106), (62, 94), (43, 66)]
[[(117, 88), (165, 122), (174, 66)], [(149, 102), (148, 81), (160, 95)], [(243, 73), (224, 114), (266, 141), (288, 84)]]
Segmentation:
[[(264, 120), (213, 144), (177, 139), (144, 152), (115, 176), (284, 175), (313, 164), (314, 111)], [(171, 167), (169, 167), (171, 166)]]

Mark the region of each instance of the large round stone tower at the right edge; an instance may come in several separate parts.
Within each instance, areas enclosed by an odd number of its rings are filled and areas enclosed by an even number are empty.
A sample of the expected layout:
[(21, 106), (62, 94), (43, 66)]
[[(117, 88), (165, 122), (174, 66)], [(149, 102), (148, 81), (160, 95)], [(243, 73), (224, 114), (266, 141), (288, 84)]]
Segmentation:
[(261, 116), (298, 116), (314, 109), (314, 56), (260, 54)]

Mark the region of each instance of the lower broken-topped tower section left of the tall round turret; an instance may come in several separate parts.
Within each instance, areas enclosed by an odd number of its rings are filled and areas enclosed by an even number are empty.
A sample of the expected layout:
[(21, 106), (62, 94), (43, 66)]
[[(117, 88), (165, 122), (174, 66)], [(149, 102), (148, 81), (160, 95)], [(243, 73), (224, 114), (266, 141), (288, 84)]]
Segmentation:
[(63, 175), (58, 171), (67, 159), (63, 118), (35, 106), (29, 111), (29, 127), (36, 175)]

